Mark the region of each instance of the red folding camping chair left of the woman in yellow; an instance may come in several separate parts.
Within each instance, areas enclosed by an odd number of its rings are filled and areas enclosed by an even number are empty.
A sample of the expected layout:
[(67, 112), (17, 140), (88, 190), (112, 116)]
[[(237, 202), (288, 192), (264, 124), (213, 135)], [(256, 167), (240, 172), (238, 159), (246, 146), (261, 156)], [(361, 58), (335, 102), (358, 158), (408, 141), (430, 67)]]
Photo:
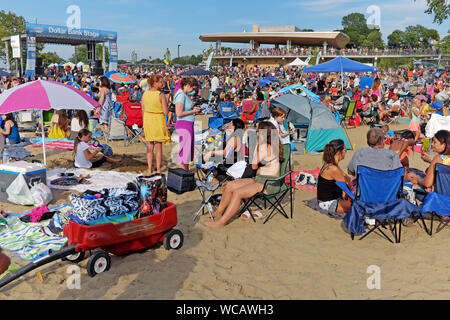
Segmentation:
[(142, 104), (125, 102), (123, 104), (123, 110), (125, 115), (121, 117), (121, 120), (123, 121), (125, 135), (124, 145), (127, 147), (136, 139), (144, 143), (141, 139), (144, 125), (144, 120), (142, 118)]

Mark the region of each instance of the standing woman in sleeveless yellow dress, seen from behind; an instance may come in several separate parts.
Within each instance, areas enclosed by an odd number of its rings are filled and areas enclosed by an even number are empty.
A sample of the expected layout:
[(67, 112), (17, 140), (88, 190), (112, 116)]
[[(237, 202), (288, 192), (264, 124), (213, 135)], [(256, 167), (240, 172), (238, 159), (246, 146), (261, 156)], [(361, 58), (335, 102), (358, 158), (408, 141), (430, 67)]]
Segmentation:
[(161, 174), (162, 144), (170, 142), (165, 116), (169, 113), (166, 96), (160, 92), (164, 88), (164, 80), (154, 75), (148, 81), (150, 90), (142, 96), (142, 112), (144, 118), (145, 141), (147, 141), (148, 173), (153, 172), (153, 151), (156, 149), (156, 171)]

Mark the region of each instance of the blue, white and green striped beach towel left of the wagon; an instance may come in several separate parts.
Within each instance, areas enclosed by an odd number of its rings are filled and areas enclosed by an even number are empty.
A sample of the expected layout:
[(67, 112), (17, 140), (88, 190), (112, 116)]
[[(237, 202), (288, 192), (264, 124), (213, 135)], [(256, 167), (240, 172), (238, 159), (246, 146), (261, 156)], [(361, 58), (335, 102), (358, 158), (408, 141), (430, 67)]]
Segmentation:
[[(62, 214), (70, 209), (68, 205), (51, 208)], [(9, 251), (12, 256), (35, 262), (47, 256), (49, 250), (58, 251), (67, 243), (65, 237), (52, 237), (41, 231), (50, 221), (24, 223), (19, 219), (20, 216), (23, 214), (8, 213), (8, 225), (0, 226), (0, 247)]]

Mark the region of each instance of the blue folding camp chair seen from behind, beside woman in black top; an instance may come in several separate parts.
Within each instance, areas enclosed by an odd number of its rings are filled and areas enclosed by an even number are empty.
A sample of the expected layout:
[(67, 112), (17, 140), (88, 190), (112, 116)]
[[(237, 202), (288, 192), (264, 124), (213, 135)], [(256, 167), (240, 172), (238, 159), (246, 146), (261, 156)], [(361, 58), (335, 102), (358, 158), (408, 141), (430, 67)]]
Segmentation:
[[(356, 194), (353, 194), (345, 183), (337, 182), (336, 184), (354, 201), (352, 211), (345, 217), (345, 223), (348, 227), (352, 224), (357, 217), (353, 215), (355, 205), (358, 202), (362, 202), (361, 206), (365, 204), (378, 205), (379, 209), (386, 209), (383, 207), (383, 203), (392, 202), (402, 198), (403, 195), (403, 178), (405, 175), (405, 169), (400, 168), (393, 171), (380, 171), (371, 169), (364, 166), (359, 166), (357, 170), (357, 185)], [(380, 186), (383, 186), (380, 188)], [(407, 200), (405, 200), (407, 201)], [(358, 204), (359, 205), (359, 204)], [(389, 242), (394, 241), (383, 232), (381, 228), (386, 229), (386, 225), (394, 223), (391, 227), (391, 231), (394, 234), (395, 242), (400, 243), (402, 232), (402, 219), (391, 217), (390, 212), (383, 212), (383, 218), (380, 218), (380, 214), (375, 219), (375, 224), (366, 234), (364, 234), (360, 240), (364, 240), (367, 236), (375, 231), (379, 231)], [(384, 218), (385, 216), (385, 218)], [(367, 221), (367, 220), (366, 220)], [(398, 231), (397, 231), (398, 225)], [(355, 239), (355, 233), (351, 232), (352, 240)]]

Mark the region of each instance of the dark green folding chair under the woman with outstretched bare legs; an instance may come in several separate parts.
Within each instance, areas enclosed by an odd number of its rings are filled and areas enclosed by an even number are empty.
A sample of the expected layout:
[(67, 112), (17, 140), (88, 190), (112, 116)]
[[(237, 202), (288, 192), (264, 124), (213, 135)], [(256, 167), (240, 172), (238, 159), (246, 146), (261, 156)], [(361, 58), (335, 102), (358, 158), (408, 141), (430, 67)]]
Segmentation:
[[(257, 193), (250, 199), (244, 200), (244, 206), (239, 212), (239, 215), (242, 215), (244, 212), (250, 209), (251, 206), (255, 205), (258, 207), (258, 209), (263, 210), (260, 205), (257, 204), (257, 201), (262, 200), (264, 201), (264, 207), (267, 208), (266, 204), (269, 203), (270, 207), (268, 210), (272, 210), (270, 214), (267, 216), (266, 220), (264, 221), (264, 224), (266, 224), (270, 219), (273, 218), (273, 216), (277, 213), (280, 213), (283, 215), (286, 219), (289, 219), (289, 215), (286, 213), (286, 211), (283, 208), (282, 201), (284, 200), (284, 197), (289, 193), (290, 197), (290, 206), (291, 206), (291, 219), (293, 218), (293, 192), (292, 192), (292, 175), (291, 171), (287, 171), (288, 168), (291, 166), (291, 149), (290, 148), (284, 148), (284, 161), (281, 163), (280, 166), (280, 173), (286, 172), (285, 174), (282, 174), (279, 178), (270, 179), (266, 182), (264, 185), (264, 188), (261, 192)], [(289, 167), (288, 167), (289, 165)], [(291, 183), (286, 185), (286, 177), (290, 177)], [(279, 182), (281, 188), (278, 193), (275, 194), (265, 194), (267, 183), (268, 182)], [(250, 214), (253, 221), (256, 222), (255, 217)]]

